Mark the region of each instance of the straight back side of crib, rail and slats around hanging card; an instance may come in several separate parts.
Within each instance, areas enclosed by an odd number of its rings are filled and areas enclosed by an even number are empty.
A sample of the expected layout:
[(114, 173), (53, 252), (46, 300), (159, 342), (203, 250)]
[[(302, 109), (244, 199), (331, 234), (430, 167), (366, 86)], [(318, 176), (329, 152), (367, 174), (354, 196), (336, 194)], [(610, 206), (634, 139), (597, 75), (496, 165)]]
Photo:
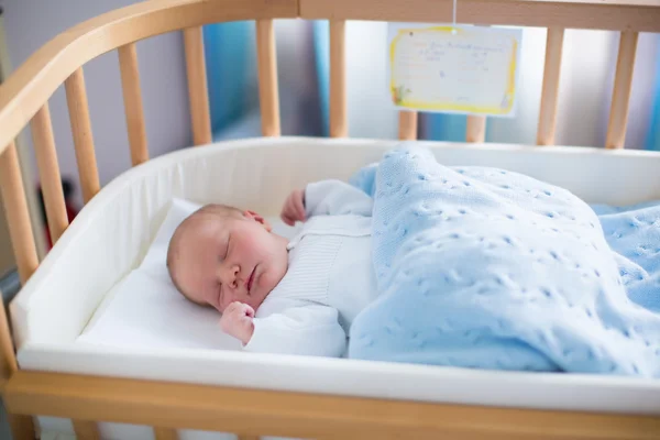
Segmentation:
[[(342, 64), (338, 23), (345, 20), (376, 20), (396, 22), (451, 22), (452, 1), (435, 0), (299, 0), (300, 16), (317, 20), (329, 19), (330, 35), (330, 134), (343, 136), (348, 131), (342, 118), (346, 110), (341, 88)], [(654, 0), (582, 0), (582, 1), (535, 1), (535, 0), (461, 0), (457, 6), (459, 23), (480, 25), (521, 25), (548, 29), (546, 66), (539, 124), (538, 145), (554, 144), (558, 91), (561, 70), (564, 29), (595, 29), (620, 31), (619, 55), (613, 91), (609, 124), (605, 146), (624, 147), (628, 105), (631, 90), (632, 68), (639, 32), (660, 32), (660, 3)], [(333, 23), (336, 28), (333, 28)], [(334, 87), (333, 87), (334, 86)], [(333, 91), (336, 90), (336, 91)], [(399, 139), (410, 140), (411, 114), (399, 114)], [(485, 141), (486, 120), (469, 116), (465, 140), (470, 143)]]

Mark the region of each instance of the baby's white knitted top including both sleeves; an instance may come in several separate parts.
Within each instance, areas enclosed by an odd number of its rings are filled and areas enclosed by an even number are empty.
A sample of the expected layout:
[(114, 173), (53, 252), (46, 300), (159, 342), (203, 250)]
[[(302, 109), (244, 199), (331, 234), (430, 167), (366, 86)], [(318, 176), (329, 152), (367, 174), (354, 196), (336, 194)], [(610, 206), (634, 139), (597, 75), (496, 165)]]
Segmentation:
[(342, 356), (355, 316), (377, 295), (373, 199), (340, 180), (305, 189), (307, 221), (288, 244), (286, 275), (256, 311), (244, 350)]

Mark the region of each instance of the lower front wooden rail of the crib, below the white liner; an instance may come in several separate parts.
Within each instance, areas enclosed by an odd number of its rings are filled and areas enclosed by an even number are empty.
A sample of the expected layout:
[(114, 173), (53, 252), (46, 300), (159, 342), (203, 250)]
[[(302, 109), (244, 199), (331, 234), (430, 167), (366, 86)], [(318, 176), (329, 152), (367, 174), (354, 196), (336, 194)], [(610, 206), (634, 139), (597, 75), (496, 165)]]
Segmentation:
[(7, 386), (6, 404), (22, 415), (308, 439), (660, 438), (660, 419), (651, 415), (425, 404), (21, 371)]

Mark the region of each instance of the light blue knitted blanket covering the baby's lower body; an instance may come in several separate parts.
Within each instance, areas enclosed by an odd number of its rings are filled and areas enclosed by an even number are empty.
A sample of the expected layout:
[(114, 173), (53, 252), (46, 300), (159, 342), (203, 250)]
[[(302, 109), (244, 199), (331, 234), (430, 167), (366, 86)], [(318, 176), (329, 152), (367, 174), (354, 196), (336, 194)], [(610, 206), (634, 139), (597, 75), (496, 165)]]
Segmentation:
[(660, 376), (660, 208), (602, 224), (568, 190), (414, 144), (352, 184), (374, 197), (380, 297), (349, 358)]

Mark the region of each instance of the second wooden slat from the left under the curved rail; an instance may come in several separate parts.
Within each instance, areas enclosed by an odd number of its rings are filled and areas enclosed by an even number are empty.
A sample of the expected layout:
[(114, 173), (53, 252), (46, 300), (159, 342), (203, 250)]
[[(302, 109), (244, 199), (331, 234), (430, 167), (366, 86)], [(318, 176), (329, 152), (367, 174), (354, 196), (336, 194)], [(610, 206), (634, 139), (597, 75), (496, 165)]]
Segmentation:
[(68, 228), (68, 217), (64, 204), (62, 176), (59, 175), (59, 165), (57, 164), (51, 110), (47, 102), (32, 118), (31, 125), (34, 154), (41, 177), (46, 218), (48, 219), (48, 230), (51, 231), (51, 240), (55, 244), (66, 228)]

